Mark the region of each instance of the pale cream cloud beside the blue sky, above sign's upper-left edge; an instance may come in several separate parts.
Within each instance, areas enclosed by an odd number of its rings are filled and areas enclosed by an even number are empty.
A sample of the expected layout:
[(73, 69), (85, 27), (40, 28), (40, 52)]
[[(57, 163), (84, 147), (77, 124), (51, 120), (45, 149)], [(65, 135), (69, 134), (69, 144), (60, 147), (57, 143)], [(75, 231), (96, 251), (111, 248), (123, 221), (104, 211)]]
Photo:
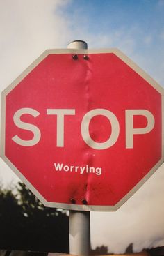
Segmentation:
[[(65, 0), (6, 0), (0, 3), (0, 83), (4, 87), (47, 48), (69, 38), (62, 10)], [(60, 15), (58, 15), (60, 13)]]

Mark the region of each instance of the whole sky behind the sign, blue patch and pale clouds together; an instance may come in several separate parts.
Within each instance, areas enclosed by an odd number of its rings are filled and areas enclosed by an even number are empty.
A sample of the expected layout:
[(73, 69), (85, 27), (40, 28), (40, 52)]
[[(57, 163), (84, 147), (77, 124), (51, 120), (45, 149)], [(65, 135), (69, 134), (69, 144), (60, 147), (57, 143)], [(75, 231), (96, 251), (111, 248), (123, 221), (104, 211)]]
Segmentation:
[[(117, 47), (164, 86), (163, 0), (0, 0), (0, 90), (44, 50)], [(18, 181), (0, 159), (0, 183)], [(91, 213), (92, 246), (164, 246), (164, 165), (116, 212)]]

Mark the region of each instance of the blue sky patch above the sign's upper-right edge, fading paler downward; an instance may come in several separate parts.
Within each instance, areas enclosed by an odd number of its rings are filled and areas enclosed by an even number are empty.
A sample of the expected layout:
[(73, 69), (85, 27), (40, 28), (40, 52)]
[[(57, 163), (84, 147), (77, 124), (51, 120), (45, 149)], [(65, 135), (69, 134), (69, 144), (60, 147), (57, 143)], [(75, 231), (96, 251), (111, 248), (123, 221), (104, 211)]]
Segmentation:
[(64, 14), (71, 40), (82, 38), (91, 48), (119, 47), (164, 84), (163, 0), (77, 0), (67, 4)]

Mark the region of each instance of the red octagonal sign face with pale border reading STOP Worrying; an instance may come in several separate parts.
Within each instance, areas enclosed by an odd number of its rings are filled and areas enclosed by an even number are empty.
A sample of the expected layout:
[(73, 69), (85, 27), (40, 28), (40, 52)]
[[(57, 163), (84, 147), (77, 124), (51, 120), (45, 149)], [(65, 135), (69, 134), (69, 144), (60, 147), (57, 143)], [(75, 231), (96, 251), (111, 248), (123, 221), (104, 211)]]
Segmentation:
[(47, 50), (1, 115), (1, 157), (46, 206), (115, 211), (163, 163), (163, 88), (119, 50)]

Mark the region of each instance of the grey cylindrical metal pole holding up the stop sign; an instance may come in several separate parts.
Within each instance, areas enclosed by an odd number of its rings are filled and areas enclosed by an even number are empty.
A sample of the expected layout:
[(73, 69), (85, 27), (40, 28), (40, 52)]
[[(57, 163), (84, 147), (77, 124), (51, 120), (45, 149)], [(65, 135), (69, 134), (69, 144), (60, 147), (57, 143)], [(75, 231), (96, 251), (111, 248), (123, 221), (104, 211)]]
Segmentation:
[[(67, 46), (69, 49), (87, 47), (87, 43), (81, 40), (73, 41)], [(69, 253), (90, 254), (90, 211), (69, 211)]]

